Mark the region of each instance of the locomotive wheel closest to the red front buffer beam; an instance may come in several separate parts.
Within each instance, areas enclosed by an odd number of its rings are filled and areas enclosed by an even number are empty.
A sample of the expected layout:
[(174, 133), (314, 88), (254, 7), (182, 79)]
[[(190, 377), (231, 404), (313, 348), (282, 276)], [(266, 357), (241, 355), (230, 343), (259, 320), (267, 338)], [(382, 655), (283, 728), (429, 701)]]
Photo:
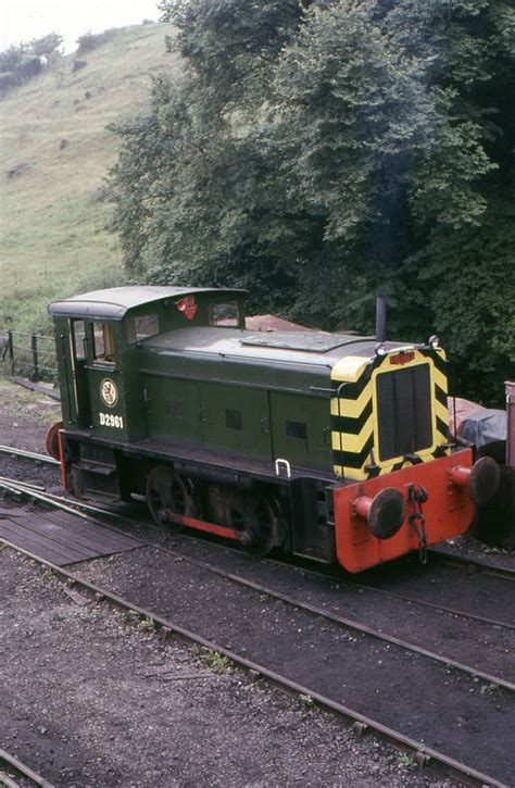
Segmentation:
[(263, 558), (284, 541), (279, 504), (273, 498), (250, 497), (229, 509), (229, 524), (241, 531), (240, 547), (249, 555)]

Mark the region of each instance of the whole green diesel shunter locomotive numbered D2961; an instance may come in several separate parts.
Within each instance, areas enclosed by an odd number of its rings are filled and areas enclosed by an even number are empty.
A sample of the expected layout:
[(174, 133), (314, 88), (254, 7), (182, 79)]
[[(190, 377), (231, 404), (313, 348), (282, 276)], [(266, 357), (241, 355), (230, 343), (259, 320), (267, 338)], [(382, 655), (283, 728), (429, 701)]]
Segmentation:
[(244, 295), (121, 287), (50, 304), (65, 488), (145, 496), (159, 523), (350, 572), (463, 533), (490, 468), (449, 443), (438, 340), (252, 332)]

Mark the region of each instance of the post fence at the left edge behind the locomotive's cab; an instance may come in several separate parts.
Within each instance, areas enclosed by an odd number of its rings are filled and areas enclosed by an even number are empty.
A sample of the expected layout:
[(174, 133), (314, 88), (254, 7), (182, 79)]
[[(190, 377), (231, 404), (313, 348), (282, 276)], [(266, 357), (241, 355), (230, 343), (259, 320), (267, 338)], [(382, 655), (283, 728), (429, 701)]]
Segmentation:
[(58, 379), (53, 337), (0, 328), (0, 372), (38, 380)]

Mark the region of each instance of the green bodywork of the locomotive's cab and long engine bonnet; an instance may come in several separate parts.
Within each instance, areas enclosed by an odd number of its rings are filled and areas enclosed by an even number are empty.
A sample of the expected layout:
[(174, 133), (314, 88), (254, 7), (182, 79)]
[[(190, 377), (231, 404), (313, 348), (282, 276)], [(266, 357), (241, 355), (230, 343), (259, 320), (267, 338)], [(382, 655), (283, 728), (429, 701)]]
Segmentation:
[[(212, 308), (229, 302), (238, 304), (236, 327), (211, 326)], [(369, 337), (247, 332), (240, 290), (113, 288), (49, 311), (66, 427), (125, 442), (148, 438), (269, 462), (280, 458), (329, 474), (331, 367), (349, 353), (374, 357)], [(159, 334), (129, 341), (129, 323), (134, 327), (133, 318), (145, 315), (158, 318)], [(74, 358), (71, 341), (77, 320), (85, 322), (85, 361)], [(93, 321), (110, 327), (114, 363), (95, 359)], [(117, 389), (115, 403), (102, 398), (106, 379)]]

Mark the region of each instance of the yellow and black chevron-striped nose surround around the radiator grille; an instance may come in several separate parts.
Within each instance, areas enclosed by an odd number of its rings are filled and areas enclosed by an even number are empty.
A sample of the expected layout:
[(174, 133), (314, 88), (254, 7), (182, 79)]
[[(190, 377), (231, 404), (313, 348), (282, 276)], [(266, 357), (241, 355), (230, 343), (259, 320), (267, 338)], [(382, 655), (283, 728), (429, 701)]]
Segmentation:
[[(409, 361), (399, 367), (391, 358), (400, 350), (372, 358), (348, 355), (338, 361), (331, 371), (331, 443), (332, 463), (337, 476), (367, 479), (400, 468), (428, 462), (449, 452), (445, 357), (442, 350), (429, 348), (405, 349)], [(407, 358), (407, 357), (406, 357)], [(377, 376), (384, 372), (405, 370), (427, 364), (430, 380), (430, 409), (432, 441), (416, 451), (410, 459), (379, 456), (379, 413), (377, 412)]]

